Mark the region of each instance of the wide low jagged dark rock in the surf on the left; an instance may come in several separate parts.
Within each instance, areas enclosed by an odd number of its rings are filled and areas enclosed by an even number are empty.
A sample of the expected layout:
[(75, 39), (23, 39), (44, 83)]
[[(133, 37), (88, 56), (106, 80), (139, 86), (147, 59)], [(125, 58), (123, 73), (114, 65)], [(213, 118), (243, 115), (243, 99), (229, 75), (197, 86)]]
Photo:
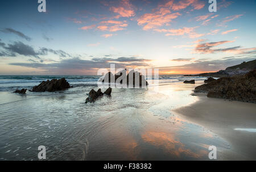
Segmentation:
[(42, 81), (38, 86), (33, 87), (32, 92), (55, 92), (71, 88), (65, 78)]

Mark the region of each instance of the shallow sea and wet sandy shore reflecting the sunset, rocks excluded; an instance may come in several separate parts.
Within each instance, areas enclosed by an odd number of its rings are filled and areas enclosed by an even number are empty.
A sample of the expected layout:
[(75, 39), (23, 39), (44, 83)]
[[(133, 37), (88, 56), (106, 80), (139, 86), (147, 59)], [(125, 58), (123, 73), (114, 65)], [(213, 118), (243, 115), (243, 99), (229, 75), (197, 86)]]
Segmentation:
[[(210, 145), (217, 147), (217, 160), (253, 160), (255, 133), (233, 129), (255, 128), (255, 104), (195, 96), (193, 89), (205, 78), (184, 84), (188, 78), (164, 75), (157, 89), (113, 88), (111, 97), (85, 104), (86, 94), (98, 89), (96, 76), (69, 78), (72, 88), (66, 91), (11, 92), (40, 83), (33, 77), (2, 81), (0, 160), (38, 160), (39, 145), (46, 146), (47, 160), (208, 161)], [(229, 116), (221, 118), (214, 107)], [(226, 122), (232, 113), (234, 121)]]

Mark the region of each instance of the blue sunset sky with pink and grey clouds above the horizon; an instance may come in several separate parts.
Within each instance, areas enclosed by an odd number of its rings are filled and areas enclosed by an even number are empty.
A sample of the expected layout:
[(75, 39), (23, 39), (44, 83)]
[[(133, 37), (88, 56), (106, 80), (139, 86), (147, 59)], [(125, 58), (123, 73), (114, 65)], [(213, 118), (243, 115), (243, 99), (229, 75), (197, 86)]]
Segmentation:
[(256, 1), (0, 2), (0, 75), (198, 74), (256, 59)]

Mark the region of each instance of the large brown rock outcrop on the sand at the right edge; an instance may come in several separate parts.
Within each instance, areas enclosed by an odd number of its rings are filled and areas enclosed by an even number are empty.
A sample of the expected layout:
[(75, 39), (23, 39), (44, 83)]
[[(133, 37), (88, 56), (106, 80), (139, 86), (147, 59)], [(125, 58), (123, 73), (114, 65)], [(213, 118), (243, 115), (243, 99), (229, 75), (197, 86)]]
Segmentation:
[(256, 70), (200, 85), (195, 92), (208, 93), (208, 97), (256, 103)]

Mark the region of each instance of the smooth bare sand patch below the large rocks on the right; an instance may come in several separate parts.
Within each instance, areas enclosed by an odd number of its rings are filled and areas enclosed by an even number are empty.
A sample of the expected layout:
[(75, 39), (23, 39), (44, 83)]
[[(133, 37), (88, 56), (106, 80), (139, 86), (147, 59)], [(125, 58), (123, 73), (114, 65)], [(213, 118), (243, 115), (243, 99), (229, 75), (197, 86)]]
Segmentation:
[(221, 136), (231, 144), (225, 151), (227, 160), (255, 160), (255, 132), (239, 131), (236, 128), (256, 128), (256, 105), (246, 102), (208, 98), (203, 93), (191, 105), (172, 110), (185, 120), (199, 124)]

